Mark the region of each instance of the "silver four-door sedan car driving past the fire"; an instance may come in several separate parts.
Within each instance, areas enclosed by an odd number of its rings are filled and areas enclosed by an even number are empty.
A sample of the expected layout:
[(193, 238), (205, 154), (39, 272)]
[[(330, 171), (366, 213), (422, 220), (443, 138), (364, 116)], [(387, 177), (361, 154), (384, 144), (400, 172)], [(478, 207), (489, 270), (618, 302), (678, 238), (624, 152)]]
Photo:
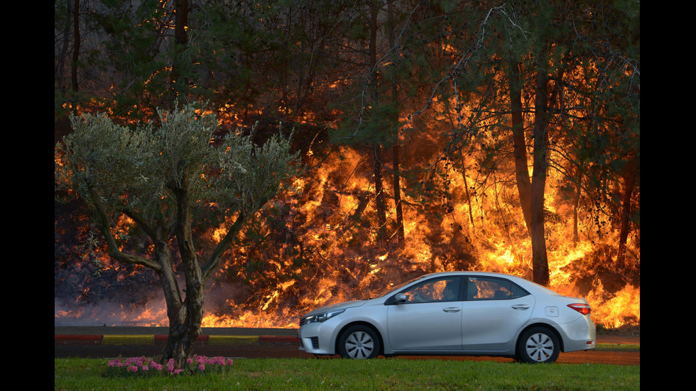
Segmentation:
[(553, 363), (594, 349), (586, 299), (513, 275), (440, 272), (369, 300), (315, 309), (300, 319), (303, 349), (344, 358), (378, 355), (513, 357)]

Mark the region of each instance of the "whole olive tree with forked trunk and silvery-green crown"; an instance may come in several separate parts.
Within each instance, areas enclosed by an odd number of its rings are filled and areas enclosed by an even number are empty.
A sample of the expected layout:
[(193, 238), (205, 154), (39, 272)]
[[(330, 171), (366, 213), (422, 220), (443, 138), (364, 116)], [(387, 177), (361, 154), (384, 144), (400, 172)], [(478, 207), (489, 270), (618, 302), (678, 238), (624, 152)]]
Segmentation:
[[(272, 136), (261, 146), (241, 132), (216, 137), (216, 116), (192, 105), (158, 116), (158, 126), (131, 128), (104, 114), (72, 117), (72, 133), (56, 147), (55, 182), (92, 207), (111, 258), (157, 273), (169, 320), (162, 360), (181, 365), (200, 335), (207, 280), (244, 224), (297, 173), (298, 154), (290, 152), (290, 136)], [(205, 243), (196, 226), (211, 212), (226, 232), (217, 243)], [(124, 216), (151, 250), (124, 250), (115, 224)]]

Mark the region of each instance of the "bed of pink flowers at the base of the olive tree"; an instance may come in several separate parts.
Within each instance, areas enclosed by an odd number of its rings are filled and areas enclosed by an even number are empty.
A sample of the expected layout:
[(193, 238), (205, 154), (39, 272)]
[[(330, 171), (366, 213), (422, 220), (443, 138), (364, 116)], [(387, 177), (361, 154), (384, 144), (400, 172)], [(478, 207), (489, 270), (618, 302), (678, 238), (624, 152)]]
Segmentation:
[(225, 360), (224, 357), (205, 357), (194, 355), (187, 358), (184, 368), (174, 368), (174, 359), (170, 358), (167, 365), (157, 363), (152, 358), (131, 357), (114, 358), (109, 360), (107, 377), (145, 377), (161, 375), (180, 375), (195, 373), (222, 373), (232, 365), (232, 358)]

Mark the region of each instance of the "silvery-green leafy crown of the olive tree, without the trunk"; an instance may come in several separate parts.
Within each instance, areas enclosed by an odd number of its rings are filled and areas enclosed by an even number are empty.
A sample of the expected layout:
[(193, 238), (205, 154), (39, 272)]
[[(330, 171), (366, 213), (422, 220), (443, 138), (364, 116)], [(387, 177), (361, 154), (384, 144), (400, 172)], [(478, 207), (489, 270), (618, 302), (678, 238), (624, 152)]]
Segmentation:
[(262, 146), (241, 133), (216, 139), (217, 116), (197, 114), (193, 105), (158, 115), (161, 126), (132, 128), (104, 114), (72, 117), (73, 131), (55, 154), (57, 185), (93, 204), (91, 184), (112, 218), (129, 211), (168, 225), (176, 212), (173, 188), (187, 184), (193, 204), (253, 214), (297, 173), (289, 136)]

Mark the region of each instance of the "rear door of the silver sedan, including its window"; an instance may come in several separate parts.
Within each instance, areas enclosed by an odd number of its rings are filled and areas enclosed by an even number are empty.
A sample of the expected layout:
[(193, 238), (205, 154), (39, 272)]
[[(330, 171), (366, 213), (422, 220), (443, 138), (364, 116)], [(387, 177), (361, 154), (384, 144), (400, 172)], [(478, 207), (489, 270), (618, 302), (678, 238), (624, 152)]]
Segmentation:
[(504, 278), (468, 277), (462, 302), (464, 351), (506, 351), (534, 309), (534, 297)]

